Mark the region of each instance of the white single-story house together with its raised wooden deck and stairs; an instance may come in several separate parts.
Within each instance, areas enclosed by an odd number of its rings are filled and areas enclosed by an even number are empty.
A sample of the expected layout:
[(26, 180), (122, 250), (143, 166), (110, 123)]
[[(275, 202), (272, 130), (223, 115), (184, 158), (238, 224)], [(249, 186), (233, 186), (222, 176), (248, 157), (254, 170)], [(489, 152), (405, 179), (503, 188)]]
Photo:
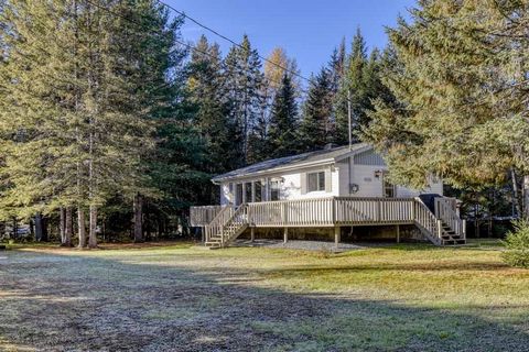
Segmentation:
[(431, 177), (417, 190), (387, 175), (382, 156), (366, 143), (269, 160), (215, 176), (219, 206), (193, 207), (191, 222), (204, 228), (212, 248), (247, 229), (283, 228), (287, 240), (291, 228), (331, 228), (338, 242), (342, 227), (379, 224), (415, 224), (440, 245), (464, 242), (463, 221), (455, 200), (443, 197), (442, 179)]

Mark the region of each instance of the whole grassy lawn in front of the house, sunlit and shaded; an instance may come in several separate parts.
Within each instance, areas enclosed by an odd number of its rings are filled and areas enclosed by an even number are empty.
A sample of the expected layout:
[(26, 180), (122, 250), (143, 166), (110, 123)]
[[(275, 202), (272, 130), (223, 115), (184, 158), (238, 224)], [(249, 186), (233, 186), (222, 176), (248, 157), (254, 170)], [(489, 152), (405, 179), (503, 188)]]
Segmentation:
[(0, 252), (0, 350), (529, 351), (498, 244)]

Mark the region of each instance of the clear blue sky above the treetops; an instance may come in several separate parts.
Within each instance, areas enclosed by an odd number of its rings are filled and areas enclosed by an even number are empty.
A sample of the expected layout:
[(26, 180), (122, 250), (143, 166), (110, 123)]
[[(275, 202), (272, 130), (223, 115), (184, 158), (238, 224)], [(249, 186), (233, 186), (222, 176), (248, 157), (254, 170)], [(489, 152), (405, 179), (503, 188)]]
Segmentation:
[[(407, 15), (414, 0), (164, 0), (195, 20), (240, 42), (246, 33), (262, 56), (276, 46), (298, 61), (310, 76), (325, 64), (345, 36), (347, 43), (359, 26), (368, 46), (384, 47), (385, 25), (392, 26), (398, 14)], [(182, 34), (195, 41), (201, 34), (220, 44), (229, 43), (187, 21)]]

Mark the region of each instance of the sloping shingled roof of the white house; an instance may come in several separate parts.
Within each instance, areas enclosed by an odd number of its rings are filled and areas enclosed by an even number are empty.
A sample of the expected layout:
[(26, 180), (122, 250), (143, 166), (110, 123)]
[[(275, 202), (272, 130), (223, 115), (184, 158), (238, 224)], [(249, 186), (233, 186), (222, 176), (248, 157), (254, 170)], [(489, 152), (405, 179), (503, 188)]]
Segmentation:
[(366, 146), (368, 146), (368, 144), (366, 143), (356, 143), (356, 144), (353, 144), (350, 150), (349, 150), (349, 146), (346, 145), (346, 146), (325, 148), (325, 150), (320, 150), (315, 152), (309, 152), (309, 153), (285, 156), (280, 158), (272, 158), (272, 160), (249, 165), (242, 168), (238, 168), (223, 175), (215, 176), (214, 178), (212, 178), (212, 180), (214, 183), (218, 183), (218, 182), (233, 179), (233, 178), (253, 176), (257, 174), (276, 173), (284, 168), (302, 166), (304, 164), (313, 164), (313, 163), (331, 164), (331, 163), (334, 163), (335, 160), (338, 158), (339, 156), (348, 154), (354, 151), (359, 151)]

